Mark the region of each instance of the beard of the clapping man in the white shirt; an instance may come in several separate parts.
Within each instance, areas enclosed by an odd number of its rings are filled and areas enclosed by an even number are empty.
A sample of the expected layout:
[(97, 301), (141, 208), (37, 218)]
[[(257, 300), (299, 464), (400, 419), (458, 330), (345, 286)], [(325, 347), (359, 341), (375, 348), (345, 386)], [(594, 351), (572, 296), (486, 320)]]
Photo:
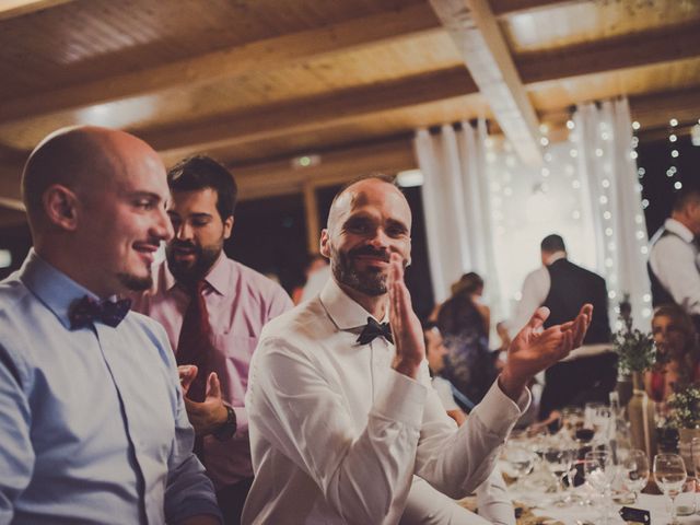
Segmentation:
[(388, 262), (389, 252), (374, 249), (372, 246), (360, 246), (343, 253), (337, 250), (331, 244), (330, 255), (330, 269), (336, 281), (365, 295), (377, 296), (386, 293), (388, 272), (372, 267), (360, 270), (355, 266), (354, 258), (360, 255), (370, 255)]

